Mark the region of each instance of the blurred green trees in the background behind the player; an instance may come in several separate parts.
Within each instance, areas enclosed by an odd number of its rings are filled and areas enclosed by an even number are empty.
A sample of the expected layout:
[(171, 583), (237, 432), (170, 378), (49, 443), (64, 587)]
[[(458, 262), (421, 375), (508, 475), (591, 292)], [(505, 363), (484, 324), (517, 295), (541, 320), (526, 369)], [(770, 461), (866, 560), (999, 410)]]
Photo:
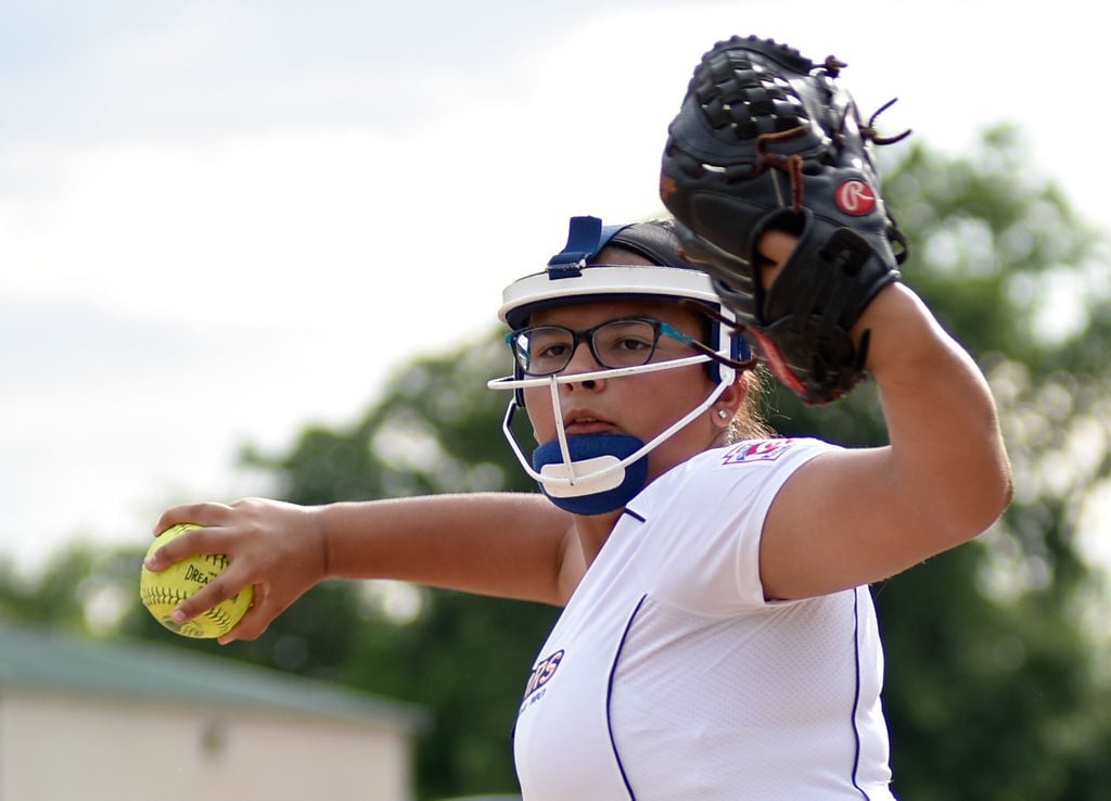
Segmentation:
[[(1017, 134), (1000, 129), (960, 158), (910, 148), (887, 173), (912, 243), (905, 280), (989, 377), (1017, 477), (1015, 502), (992, 530), (875, 588), (895, 789), (915, 801), (1094, 801), (1111, 787), (1107, 643), (1090, 625), (1107, 587), (1082, 542), (1085, 525), (1111, 531), (1111, 510), (1093, 514), (1087, 502), (1111, 474), (1107, 243), (1023, 158)], [(490, 332), (414, 360), (351, 427), (308, 429), (283, 455), (249, 450), (244, 460), (299, 503), (534, 491), (499, 433), (508, 399), (486, 389), (506, 370), (503, 350)], [(821, 408), (772, 389), (769, 408), (787, 435), (884, 441), (867, 386)], [(130, 591), (137, 564), (138, 554), (76, 549), (38, 584), (0, 565), (0, 615), (89, 625), (92, 601)], [(118, 631), (172, 638), (129, 603)], [(514, 791), (509, 732), (554, 614), (328, 582), (236, 655), (429, 707), (420, 798)]]

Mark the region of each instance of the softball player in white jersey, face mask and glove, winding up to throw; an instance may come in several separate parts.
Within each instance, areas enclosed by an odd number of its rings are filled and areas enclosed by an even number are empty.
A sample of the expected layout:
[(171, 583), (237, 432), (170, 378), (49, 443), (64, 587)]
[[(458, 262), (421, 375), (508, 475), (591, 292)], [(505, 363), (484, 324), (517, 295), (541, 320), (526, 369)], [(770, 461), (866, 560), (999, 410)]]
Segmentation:
[[(893, 799), (868, 587), (983, 531), (1011, 483), (983, 378), (901, 281), (839, 68), (719, 43), (664, 152), (675, 221), (573, 218), (504, 290), (491, 387), (542, 492), (170, 509), (157, 531), (203, 528), (150, 569), (230, 559), (178, 620), (251, 584), (222, 641), (252, 639), (326, 578), (556, 604), (512, 732), (527, 801)], [(772, 435), (758, 360), (811, 403), (870, 374), (890, 443)]]

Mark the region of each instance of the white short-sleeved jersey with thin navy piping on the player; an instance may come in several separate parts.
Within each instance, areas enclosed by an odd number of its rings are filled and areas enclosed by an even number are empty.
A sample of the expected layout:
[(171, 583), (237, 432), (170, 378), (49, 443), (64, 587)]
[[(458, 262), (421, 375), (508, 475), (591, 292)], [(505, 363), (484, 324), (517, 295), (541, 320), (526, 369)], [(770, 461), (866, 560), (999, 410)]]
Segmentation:
[(629, 503), (526, 688), (524, 801), (892, 801), (868, 589), (760, 585), (772, 499), (833, 448), (707, 451)]

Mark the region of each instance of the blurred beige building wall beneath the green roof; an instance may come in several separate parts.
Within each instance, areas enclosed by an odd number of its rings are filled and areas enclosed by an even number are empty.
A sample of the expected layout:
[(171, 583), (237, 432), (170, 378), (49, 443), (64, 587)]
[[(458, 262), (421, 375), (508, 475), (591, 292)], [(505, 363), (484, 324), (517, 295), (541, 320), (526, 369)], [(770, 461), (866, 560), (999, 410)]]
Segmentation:
[(0, 801), (407, 801), (409, 734), (194, 703), (9, 689)]

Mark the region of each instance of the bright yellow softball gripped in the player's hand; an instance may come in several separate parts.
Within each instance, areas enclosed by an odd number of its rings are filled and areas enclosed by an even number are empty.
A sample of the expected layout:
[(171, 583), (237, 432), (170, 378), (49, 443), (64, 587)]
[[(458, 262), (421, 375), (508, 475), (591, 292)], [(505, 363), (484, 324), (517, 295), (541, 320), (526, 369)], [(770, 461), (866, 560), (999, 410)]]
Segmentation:
[[(174, 537), (199, 528), (192, 523), (180, 523), (167, 529), (150, 544), (147, 555)], [(250, 609), (251, 598), (254, 595), (252, 587), (248, 585), (239, 594), (184, 623), (174, 623), (170, 619), (170, 613), (179, 603), (212, 581), (226, 567), (228, 558), (222, 553), (192, 555), (157, 573), (143, 567), (139, 577), (139, 598), (142, 605), (154, 615), (154, 620), (176, 634), (198, 639), (227, 634)]]

